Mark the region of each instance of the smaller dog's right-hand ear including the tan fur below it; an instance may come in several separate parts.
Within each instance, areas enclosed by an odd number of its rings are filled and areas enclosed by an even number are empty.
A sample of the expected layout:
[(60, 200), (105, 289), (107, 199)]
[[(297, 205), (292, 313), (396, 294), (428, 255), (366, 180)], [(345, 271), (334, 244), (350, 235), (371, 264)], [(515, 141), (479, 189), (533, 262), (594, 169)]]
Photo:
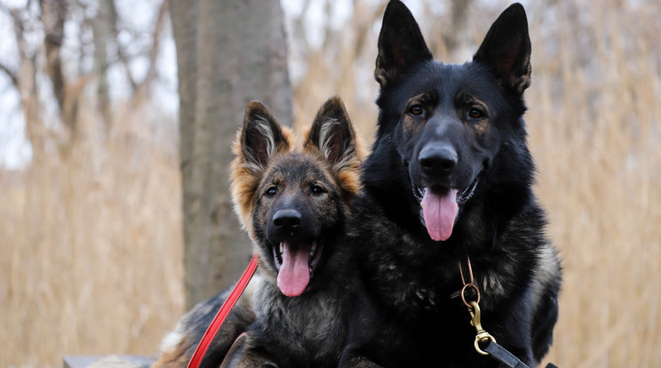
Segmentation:
[(304, 148), (318, 150), (331, 164), (331, 170), (345, 194), (354, 196), (360, 191), (362, 145), (339, 97), (327, 100), (319, 109)]

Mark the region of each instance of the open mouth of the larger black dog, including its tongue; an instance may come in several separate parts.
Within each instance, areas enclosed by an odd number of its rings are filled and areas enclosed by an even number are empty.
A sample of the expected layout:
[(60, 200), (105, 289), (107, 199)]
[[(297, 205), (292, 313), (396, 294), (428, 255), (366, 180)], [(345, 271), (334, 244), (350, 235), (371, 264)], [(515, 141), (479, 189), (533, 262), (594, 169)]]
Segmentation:
[(457, 188), (414, 188), (413, 196), (422, 207), (422, 220), (427, 233), (436, 242), (448, 240), (452, 235), (459, 206), (466, 204), (473, 196), (480, 181), (475, 177), (468, 187), (461, 192)]

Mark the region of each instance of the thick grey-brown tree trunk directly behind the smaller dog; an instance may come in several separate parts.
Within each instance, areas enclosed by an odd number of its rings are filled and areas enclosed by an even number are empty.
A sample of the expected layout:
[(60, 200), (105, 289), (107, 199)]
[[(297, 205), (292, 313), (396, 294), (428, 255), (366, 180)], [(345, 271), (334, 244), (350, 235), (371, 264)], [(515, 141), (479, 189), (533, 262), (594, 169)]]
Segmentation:
[(276, 0), (170, 0), (179, 65), (187, 308), (234, 284), (250, 260), (229, 195), (236, 130), (251, 100), (291, 124), (283, 12)]

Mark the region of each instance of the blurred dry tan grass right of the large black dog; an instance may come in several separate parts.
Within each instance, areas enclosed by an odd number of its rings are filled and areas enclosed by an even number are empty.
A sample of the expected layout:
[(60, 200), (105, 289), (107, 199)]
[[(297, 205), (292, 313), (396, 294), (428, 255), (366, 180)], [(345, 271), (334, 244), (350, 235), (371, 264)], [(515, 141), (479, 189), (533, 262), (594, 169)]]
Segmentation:
[(584, 28), (559, 24), (558, 54), (535, 59), (529, 95), (538, 193), (565, 268), (549, 359), (661, 366), (661, 13), (604, 2), (579, 15)]

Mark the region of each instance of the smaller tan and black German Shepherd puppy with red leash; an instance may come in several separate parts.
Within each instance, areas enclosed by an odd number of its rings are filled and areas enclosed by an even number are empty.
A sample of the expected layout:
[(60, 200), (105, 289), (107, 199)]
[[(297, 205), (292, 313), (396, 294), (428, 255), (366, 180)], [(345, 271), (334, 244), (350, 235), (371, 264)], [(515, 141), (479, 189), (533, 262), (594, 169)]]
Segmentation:
[[(362, 147), (337, 97), (323, 104), (301, 148), (267, 108), (248, 105), (231, 189), (259, 254), (258, 274), (202, 366), (338, 365), (354, 300), (357, 268), (346, 227), (361, 189), (361, 160)], [(221, 293), (183, 316), (155, 366), (186, 366), (226, 297)]]

